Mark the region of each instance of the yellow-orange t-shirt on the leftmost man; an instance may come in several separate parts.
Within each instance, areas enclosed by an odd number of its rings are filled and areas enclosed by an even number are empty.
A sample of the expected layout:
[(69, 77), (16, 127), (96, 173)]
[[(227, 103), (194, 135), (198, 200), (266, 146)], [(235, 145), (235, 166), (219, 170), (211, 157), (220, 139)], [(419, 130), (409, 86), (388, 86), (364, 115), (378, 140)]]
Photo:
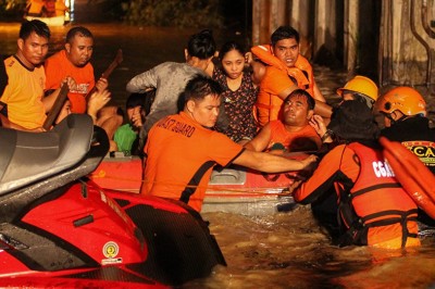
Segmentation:
[(8, 104), (8, 118), (28, 129), (42, 127), (46, 109), (41, 101), (46, 75), (44, 66), (28, 70), (15, 56), (4, 60), (8, 86), (0, 101)]

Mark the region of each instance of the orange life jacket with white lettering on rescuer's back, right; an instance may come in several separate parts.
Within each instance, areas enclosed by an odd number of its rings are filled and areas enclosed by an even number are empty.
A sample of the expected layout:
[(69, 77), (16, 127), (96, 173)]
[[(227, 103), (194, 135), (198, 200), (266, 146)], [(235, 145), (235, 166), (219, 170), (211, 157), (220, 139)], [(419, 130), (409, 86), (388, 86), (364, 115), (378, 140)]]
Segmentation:
[[(407, 241), (417, 238), (415, 203), (397, 181), (380, 150), (358, 142), (348, 148), (356, 153), (360, 173), (355, 184), (345, 184), (339, 190), (339, 219), (347, 227), (339, 244), (384, 243), (390, 248), (388, 240), (401, 239), (399, 247), (406, 247)], [(412, 239), (410, 243), (420, 244), (420, 241)]]

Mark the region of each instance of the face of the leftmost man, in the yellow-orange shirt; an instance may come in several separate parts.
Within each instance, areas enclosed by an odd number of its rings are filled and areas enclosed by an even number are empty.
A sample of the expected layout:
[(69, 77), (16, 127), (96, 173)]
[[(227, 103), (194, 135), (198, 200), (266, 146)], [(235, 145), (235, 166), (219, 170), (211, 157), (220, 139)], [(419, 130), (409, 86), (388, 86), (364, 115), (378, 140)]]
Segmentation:
[(32, 33), (27, 39), (18, 39), (18, 54), (23, 56), (21, 61), (29, 68), (37, 66), (44, 62), (48, 53), (49, 39)]

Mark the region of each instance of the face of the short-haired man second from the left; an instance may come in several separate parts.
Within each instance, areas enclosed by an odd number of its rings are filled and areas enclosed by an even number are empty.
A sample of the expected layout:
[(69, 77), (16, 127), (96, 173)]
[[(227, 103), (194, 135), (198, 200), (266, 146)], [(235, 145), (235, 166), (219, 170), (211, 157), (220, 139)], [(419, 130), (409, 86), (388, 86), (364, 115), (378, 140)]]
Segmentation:
[(65, 49), (71, 63), (77, 67), (83, 67), (92, 56), (94, 39), (76, 35), (72, 38), (71, 43), (65, 45)]

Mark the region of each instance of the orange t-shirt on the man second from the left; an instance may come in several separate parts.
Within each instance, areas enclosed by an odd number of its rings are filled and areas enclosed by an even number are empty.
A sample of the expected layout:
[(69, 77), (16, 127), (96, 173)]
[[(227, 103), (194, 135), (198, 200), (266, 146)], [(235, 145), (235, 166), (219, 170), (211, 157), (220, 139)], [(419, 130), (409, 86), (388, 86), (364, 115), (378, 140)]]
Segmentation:
[(94, 67), (88, 62), (83, 67), (77, 67), (66, 58), (66, 51), (61, 50), (46, 60), (46, 89), (58, 89), (66, 76), (74, 78), (77, 87), (69, 92), (71, 111), (74, 113), (86, 112), (85, 96), (95, 86)]

